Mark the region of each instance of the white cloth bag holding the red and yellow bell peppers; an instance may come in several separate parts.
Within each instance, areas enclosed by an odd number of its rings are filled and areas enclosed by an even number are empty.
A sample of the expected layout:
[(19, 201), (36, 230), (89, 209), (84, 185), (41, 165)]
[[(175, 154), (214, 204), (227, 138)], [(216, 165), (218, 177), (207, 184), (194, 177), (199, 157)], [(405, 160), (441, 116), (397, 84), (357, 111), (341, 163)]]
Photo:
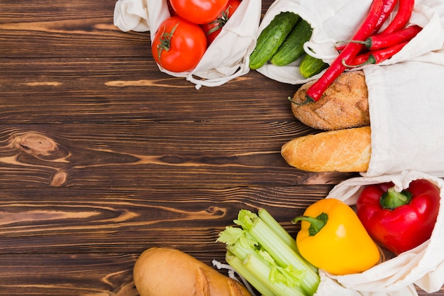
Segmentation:
[(441, 178), (417, 171), (355, 177), (336, 185), (326, 198), (340, 199), (353, 205), (362, 186), (394, 182), (396, 190), (402, 190), (417, 179), (431, 180), (440, 188), (440, 211), (431, 239), (363, 273), (330, 275), (320, 270), (321, 284), (315, 296), (416, 296), (414, 284), (426, 292), (440, 289), (444, 284), (444, 181)]

